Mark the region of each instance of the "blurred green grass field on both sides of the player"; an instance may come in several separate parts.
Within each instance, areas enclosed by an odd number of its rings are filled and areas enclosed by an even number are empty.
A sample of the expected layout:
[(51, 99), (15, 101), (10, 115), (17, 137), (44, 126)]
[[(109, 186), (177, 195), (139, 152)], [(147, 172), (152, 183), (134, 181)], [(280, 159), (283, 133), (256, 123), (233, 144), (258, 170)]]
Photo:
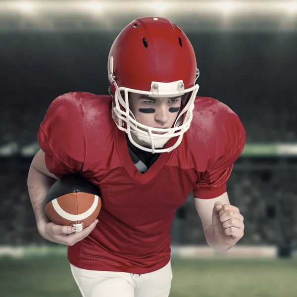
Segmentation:
[[(173, 259), (170, 297), (296, 297), (297, 259)], [(0, 259), (0, 297), (80, 297), (66, 257)]]

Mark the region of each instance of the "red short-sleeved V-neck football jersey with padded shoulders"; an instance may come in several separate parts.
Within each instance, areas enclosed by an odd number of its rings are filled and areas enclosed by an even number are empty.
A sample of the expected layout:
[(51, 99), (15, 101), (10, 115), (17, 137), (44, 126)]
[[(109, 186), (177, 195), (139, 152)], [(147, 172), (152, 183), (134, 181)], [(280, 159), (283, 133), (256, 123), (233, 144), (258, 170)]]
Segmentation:
[(168, 263), (171, 223), (189, 193), (209, 199), (226, 192), (245, 129), (225, 104), (197, 97), (181, 144), (161, 153), (142, 174), (129, 155), (125, 132), (111, 117), (111, 103), (110, 96), (83, 92), (58, 97), (41, 123), (39, 144), (49, 172), (58, 178), (79, 174), (101, 191), (99, 222), (87, 238), (68, 247), (70, 263), (148, 273)]

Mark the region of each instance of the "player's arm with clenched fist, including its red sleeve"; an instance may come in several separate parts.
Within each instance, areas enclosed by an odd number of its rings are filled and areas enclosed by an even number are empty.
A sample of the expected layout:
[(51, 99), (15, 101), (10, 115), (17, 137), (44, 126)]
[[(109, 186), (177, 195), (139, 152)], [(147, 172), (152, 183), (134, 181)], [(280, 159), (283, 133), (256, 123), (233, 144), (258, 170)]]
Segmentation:
[(216, 250), (233, 247), (244, 236), (245, 227), (240, 210), (229, 202), (227, 181), (244, 149), (246, 131), (239, 117), (227, 110), (216, 118), (217, 128), (207, 144), (207, 168), (193, 191), (205, 239)]

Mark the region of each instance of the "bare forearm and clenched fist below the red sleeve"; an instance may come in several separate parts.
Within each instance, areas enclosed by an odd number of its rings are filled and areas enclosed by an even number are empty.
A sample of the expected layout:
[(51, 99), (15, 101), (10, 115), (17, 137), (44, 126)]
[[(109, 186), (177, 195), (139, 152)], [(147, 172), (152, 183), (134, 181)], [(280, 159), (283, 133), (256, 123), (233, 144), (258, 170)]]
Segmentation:
[(195, 197), (195, 206), (210, 247), (228, 250), (244, 236), (244, 217), (230, 204), (227, 192), (211, 199)]

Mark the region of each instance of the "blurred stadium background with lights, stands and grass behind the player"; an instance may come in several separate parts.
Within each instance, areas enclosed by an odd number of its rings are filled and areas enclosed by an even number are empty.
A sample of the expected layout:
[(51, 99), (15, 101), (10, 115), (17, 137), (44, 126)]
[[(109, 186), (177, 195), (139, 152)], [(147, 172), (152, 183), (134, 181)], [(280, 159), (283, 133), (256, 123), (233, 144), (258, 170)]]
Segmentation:
[(170, 296), (296, 296), (297, 2), (210, 0), (0, 2), (0, 296), (80, 296), (65, 248), (37, 231), (27, 173), (50, 102), (107, 94), (110, 46), (139, 16), (186, 32), (198, 95), (226, 103), (247, 130), (228, 183), (245, 236), (213, 252), (190, 194), (171, 230)]

